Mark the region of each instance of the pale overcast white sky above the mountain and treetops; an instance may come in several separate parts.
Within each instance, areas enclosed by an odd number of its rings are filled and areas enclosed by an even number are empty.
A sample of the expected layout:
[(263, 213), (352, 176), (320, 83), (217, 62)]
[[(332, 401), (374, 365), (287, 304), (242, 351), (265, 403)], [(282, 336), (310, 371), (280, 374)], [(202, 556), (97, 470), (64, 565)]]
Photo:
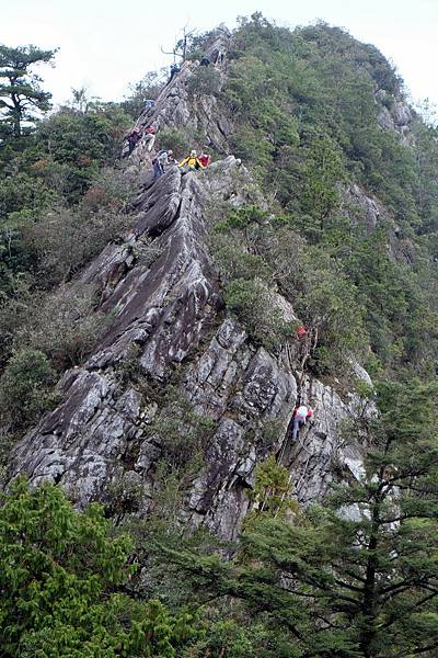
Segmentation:
[(438, 0), (0, 0), (0, 43), (60, 48), (43, 72), (56, 103), (83, 86), (116, 101), (171, 64), (160, 46), (169, 49), (186, 23), (233, 26), (255, 11), (290, 27), (322, 19), (348, 30), (395, 64), (414, 99), (438, 103)]

